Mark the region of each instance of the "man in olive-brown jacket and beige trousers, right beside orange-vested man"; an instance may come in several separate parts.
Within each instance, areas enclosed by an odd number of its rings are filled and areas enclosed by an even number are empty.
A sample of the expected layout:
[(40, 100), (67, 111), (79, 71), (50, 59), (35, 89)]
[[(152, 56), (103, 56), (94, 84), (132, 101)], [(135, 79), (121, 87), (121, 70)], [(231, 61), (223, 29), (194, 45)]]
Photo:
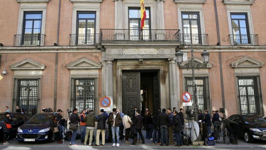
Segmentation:
[(93, 113), (93, 110), (89, 110), (89, 114), (85, 117), (86, 122), (86, 135), (84, 140), (84, 145), (87, 145), (88, 136), (89, 136), (89, 146), (93, 146), (92, 144), (92, 137), (93, 137), (93, 131), (95, 127), (95, 115)]

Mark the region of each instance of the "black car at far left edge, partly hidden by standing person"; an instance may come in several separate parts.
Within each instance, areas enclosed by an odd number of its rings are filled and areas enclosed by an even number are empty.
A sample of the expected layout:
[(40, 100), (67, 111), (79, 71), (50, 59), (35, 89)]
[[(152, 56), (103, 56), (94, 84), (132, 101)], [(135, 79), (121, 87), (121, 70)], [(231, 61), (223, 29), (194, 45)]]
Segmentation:
[[(3, 126), (4, 126), (4, 121), (3, 118), (5, 117), (5, 112), (0, 113), (0, 135), (4, 135), (3, 132)], [(26, 121), (28, 121), (28, 117), (25, 116), (24, 114), (18, 113), (18, 112), (11, 112), (10, 117), (12, 118), (13, 122), (11, 124), (11, 132), (9, 135), (9, 138), (14, 138), (17, 134), (17, 129), (19, 126), (23, 125)], [(3, 136), (0, 136), (0, 141), (2, 142)]]

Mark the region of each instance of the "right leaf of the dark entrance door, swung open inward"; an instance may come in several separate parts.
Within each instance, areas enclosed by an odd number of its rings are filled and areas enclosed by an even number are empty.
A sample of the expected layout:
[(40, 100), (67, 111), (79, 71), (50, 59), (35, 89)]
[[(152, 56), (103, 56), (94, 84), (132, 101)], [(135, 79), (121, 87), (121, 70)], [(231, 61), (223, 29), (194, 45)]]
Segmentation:
[(153, 94), (153, 110), (158, 111), (161, 108), (159, 72), (153, 75)]

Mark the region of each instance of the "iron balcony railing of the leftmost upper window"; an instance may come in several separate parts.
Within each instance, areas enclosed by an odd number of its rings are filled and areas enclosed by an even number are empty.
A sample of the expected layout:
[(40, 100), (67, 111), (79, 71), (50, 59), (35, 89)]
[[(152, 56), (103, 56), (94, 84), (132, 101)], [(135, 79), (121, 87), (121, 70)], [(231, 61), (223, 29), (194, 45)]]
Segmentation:
[(14, 35), (13, 46), (44, 46), (44, 34)]

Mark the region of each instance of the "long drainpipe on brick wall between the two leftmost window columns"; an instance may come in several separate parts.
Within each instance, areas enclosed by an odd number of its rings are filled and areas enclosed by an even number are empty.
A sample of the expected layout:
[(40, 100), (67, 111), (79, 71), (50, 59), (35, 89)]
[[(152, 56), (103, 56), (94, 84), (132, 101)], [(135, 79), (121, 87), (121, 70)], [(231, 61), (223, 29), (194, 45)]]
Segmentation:
[[(59, 45), (59, 23), (60, 23), (60, 8), (61, 0), (59, 0), (58, 6), (58, 21), (57, 21), (57, 46)], [(56, 111), (57, 105), (57, 72), (58, 72), (58, 53), (55, 53), (55, 67), (54, 67), (54, 111)]]

